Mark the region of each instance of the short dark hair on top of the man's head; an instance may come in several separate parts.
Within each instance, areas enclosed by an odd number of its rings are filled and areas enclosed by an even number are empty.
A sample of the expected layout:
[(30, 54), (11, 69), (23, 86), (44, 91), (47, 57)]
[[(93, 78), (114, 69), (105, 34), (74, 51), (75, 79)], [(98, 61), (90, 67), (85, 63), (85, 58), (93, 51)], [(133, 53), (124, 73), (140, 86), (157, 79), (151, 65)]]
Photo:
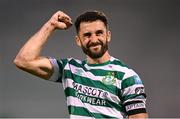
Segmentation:
[(87, 11), (77, 17), (75, 21), (76, 32), (77, 33), (79, 32), (81, 22), (93, 22), (96, 20), (101, 20), (106, 26), (106, 28), (108, 27), (108, 21), (106, 15), (103, 12), (93, 10), (93, 11)]

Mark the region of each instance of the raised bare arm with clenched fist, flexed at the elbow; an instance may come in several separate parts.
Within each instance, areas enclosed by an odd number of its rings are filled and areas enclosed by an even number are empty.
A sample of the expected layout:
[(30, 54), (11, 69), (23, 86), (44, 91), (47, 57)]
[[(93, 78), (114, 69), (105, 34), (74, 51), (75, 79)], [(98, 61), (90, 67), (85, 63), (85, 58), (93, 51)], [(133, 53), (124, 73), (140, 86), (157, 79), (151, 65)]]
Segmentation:
[(68, 15), (61, 11), (56, 12), (21, 48), (14, 59), (16, 66), (38, 77), (49, 79), (53, 67), (47, 57), (40, 56), (41, 50), (54, 30), (67, 29), (71, 25)]

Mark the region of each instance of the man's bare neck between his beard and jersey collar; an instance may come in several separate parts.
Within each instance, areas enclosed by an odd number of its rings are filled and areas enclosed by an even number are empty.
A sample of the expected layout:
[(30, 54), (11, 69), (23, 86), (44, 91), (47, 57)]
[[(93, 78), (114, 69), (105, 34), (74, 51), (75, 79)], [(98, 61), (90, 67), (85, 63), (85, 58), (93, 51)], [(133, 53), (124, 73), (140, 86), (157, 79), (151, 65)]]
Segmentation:
[(110, 58), (111, 58), (111, 56), (110, 56), (110, 54), (107, 51), (100, 58), (93, 59), (93, 58), (87, 56), (87, 62), (88, 62), (88, 64), (101, 64), (101, 63), (109, 61)]

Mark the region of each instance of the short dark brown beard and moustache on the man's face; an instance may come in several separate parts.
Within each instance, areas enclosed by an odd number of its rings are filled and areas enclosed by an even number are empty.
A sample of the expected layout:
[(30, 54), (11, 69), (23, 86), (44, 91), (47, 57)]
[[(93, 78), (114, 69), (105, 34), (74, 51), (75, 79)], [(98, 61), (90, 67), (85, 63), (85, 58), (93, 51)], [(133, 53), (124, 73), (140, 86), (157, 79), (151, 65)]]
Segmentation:
[[(90, 48), (92, 46), (98, 46), (98, 45), (100, 45), (100, 47), (101, 47), (100, 50), (91, 51)], [(106, 43), (103, 43), (100, 40), (99, 40), (99, 42), (95, 42), (95, 43), (88, 42), (86, 46), (81, 45), (81, 48), (86, 55), (88, 55), (92, 59), (97, 59), (97, 58), (102, 57), (104, 55), (104, 53), (108, 50), (108, 42), (107, 42), (107, 40), (106, 40)]]

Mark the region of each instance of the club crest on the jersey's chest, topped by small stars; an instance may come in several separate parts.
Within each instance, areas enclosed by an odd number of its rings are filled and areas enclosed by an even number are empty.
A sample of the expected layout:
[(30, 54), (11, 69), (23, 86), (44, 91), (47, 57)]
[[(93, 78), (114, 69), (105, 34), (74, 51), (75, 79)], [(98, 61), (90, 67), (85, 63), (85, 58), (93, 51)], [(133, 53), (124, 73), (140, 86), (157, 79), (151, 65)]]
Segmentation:
[(116, 82), (114, 72), (109, 72), (103, 79), (102, 82), (106, 85), (113, 85)]

